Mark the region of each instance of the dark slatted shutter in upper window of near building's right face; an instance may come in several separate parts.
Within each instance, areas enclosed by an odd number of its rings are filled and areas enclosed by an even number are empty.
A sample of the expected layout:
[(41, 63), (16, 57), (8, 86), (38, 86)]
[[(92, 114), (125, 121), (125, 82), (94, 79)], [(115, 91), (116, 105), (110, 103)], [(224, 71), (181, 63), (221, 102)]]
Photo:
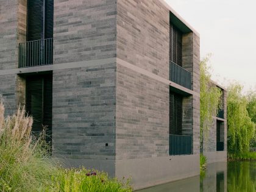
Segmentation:
[(169, 60), (182, 66), (182, 32), (169, 25)]

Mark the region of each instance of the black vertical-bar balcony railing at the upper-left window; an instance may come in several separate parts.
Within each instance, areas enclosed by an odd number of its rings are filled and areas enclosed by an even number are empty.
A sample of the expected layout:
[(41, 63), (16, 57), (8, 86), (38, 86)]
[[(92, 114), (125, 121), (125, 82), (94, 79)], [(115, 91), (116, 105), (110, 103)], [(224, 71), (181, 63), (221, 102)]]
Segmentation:
[(53, 38), (19, 44), (19, 68), (52, 65)]

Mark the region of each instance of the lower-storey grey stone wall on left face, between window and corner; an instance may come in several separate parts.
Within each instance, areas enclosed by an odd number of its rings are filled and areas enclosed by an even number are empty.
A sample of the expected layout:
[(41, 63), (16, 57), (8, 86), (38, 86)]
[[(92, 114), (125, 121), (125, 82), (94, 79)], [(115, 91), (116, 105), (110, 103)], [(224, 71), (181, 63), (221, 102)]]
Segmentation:
[(115, 158), (115, 71), (116, 63), (53, 72), (54, 157)]

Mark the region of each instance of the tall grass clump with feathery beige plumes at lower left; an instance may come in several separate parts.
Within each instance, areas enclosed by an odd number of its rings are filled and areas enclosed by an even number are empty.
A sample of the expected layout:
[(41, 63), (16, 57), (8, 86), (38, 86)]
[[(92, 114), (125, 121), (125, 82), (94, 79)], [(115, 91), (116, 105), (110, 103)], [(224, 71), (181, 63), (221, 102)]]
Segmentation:
[(0, 104), (0, 191), (43, 191), (57, 169), (40, 140), (30, 135), (33, 119), (24, 108), (4, 118)]

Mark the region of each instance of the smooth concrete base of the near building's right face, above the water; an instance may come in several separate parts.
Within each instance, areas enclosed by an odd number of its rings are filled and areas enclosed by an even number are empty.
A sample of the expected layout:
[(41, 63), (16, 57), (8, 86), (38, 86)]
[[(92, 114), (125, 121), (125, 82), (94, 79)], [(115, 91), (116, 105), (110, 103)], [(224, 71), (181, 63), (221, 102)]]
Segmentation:
[(199, 175), (199, 155), (116, 160), (116, 177), (132, 177), (134, 190)]

